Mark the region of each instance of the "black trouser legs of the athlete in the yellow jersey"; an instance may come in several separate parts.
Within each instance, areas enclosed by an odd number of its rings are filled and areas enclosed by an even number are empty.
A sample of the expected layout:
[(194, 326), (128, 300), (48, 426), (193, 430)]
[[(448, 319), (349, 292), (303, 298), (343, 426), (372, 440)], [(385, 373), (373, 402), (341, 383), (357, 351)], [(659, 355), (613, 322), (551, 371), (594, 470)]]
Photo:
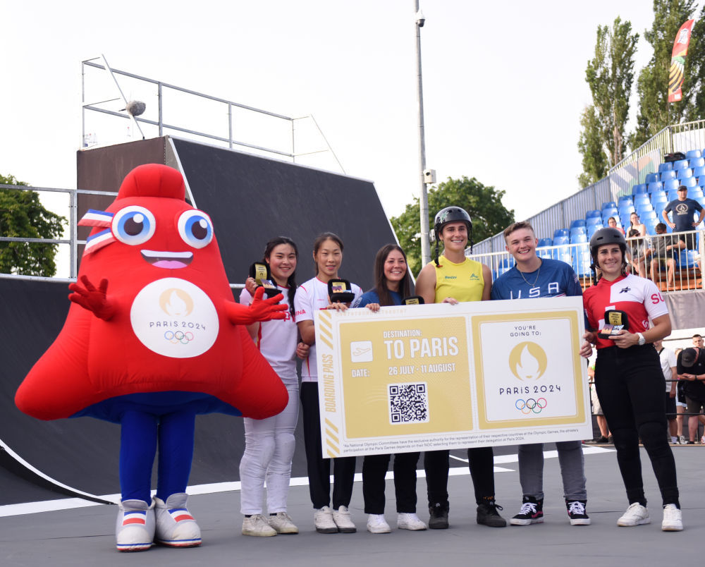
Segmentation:
[[(450, 451), (426, 451), (424, 453), (429, 506), (441, 504), (441, 507), (446, 510), (448, 510), (449, 454)], [(492, 448), (467, 449), (467, 466), (470, 468), (477, 504), (494, 499), (494, 453)]]

